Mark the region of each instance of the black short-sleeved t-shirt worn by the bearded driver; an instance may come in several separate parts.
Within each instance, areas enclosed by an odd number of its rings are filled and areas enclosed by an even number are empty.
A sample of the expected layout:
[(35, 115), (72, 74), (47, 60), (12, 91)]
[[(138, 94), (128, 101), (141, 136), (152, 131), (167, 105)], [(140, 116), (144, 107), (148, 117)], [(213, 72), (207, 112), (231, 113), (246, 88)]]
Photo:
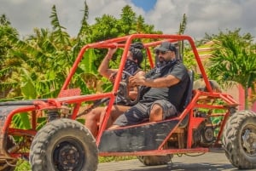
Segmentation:
[[(155, 70), (156, 69), (154, 69), (153, 72), (151, 71), (151, 77), (157, 75)], [(143, 95), (143, 100), (141, 100), (141, 102), (168, 100), (172, 103), (172, 105), (175, 105), (176, 108), (178, 109), (183, 99), (183, 94), (185, 93), (187, 85), (189, 83), (188, 71), (182, 62), (175, 61), (173, 64), (167, 66), (167, 68), (161, 69), (160, 72), (161, 73), (156, 77), (166, 77), (168, 75), (172, 75), (174, 77), (177, 77), (180, 80), (180, 82), (169, 88), (150, 88)]]

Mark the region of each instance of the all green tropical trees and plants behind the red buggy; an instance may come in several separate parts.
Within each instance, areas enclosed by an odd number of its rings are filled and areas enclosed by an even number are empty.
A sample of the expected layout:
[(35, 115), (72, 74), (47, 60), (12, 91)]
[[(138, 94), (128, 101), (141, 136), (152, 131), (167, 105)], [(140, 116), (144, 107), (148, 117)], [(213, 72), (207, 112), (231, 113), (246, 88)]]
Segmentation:
[[(162, 33), (155, 31), (154, 26), (146, 24), (143, 16), (137, 16), (128, 5), (121, 10), (119, 19), (103, 14), (102, 17), (95, 19), (93, 25), (87, 22), (89, 7), (86, 2), (83, 12), (76, 37), (71, 37), (65, 26), (61, 25), (54, 5), (49, 16), (52, 29), (34, 28), (29, 37), (22, 39), (19, 32), (11, 26), (7, 16), (0, 15), (0, 101), (55, 97), (84, 44), (132, 33)], [(184, 33), (186, 24), (187, 18), (184, 14), (179, 28), (177, 26), (177, 34)], [(206, 67), (209, 77), (224, 85), (240, 83), (245, 89), (248, 108), (248, 90), (254, 90), (256, 82), (253, 37), (250, 33), (241, 36), (240, 29), (236, 29), (220, 31), (216, 35), (206, 34), (206, 37), (197, 41), (197, 44), (201, 45), (207, 41), (214, 42), (212, 57)], [(184, 43), (179, 45), (182, 47), (180, 54), (184, 57), (184, 63), (195, 67), (195, 60), (189, 52), (190, 47)], [(71, 86), (82, 88), (83, 94), (92, 94), (97, 91), (96, 86), (86, 83), (86, 80), (91, 82), (100, 78), (108, 85), (108, 81), (100, 77), (96, 71), (105, 53), (106, 49), (86, 52), (84, 55), (87, 58), (81, 61)], [(118, 59), (119, 54), (120, 52), (117, 52), (113, 58)], [(119, 60), (111, 61), (110, 65), (118, 66)], [(27, 116), (15, 119), (17, 127), (28, 127)], [(27, 166), (22, 167), (24, 170), (29, 169)]]

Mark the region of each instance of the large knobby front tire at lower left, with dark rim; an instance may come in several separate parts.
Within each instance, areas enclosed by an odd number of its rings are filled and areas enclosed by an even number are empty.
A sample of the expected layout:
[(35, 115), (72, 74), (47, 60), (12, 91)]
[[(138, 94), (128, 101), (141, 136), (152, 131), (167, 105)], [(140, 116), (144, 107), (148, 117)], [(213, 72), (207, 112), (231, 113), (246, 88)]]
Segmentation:
[(36, 134), (29, 162), (32, 171), (95, 171), (98, 149), (84, 125), (71, 119), (57, 119)]

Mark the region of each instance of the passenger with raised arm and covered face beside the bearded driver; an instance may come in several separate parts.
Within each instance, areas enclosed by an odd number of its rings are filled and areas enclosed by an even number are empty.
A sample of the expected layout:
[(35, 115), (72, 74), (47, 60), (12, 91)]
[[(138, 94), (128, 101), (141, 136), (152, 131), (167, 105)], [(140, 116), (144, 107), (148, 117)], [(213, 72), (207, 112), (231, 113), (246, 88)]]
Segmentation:
[[(135, 74), (143, 74), (141, 70), (141, 63), (143, 62), (143, 52), (141, 49), (143, 48), (142, 43), (134, 43), (131, 44), (127, 54), (127, 60), (125, 62), (124, 71), (129, 72), (132, 76)], [(103, 77), (107, 77), (109, 81), (112, 83), (114, 82), (115, 76), (117, 74), (118, 69), (111, 69), (109, 68), (109, 61), (112, 60), (113, 54), (116, 52), (117, 48), (108, 48), (108, 54), (102, 60), (101, 66), (99, 66), (98, 71)], [(123, 78), (126, 76), (124, 75)], [(130, 97), (133, 99), (137, 96), (136, 91), (130, 92)], [(119, 117), (123, 112), (130, 109), (131, 106), (129, 105), (119, 105), (116, 102), (116, 105), (113, 105), (111, 109), (111, 115), (108, 120), (108, 126), (110, 126), (113, 121)], [(85, 127), (90, 129), (91, 134), (96, 137), (97, 134), (97, 123), (102, 122), (102, 118), (104, 117), (106, 112), (105, 106), (99, 106), (90, 111), (88, 114), (85, 115)]]

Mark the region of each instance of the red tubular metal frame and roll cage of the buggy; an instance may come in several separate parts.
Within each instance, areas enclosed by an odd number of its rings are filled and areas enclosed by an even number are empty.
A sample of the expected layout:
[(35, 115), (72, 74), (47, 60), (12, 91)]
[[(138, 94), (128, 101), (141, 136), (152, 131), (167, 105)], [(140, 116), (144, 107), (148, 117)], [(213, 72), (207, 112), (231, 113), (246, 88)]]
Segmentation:
[[(209, 80), (207, 78), (206, 71), (204, 70), (204, 67), (202, 66), (200, 56), (199, 56), (199, 54), (197, 52), (197, 49), (195, 47), (195, 43), (194, 43), (194, 41), (191, 37), (186, 36), (186, 35), (133, 34), (133, 35), (125, 36), (125, 37), (117, 37), (117, 38), (109, 39), (109, 40), (102, 41), (102, 42), (99, 42), (99, 43), (90, 43), (90, 44), (85, 45), (83, 48), (81, 48), (77, 59), (74, 61), (73, 67), (71, 68), (71, 70), (70, 70), (70, 72), (67, 76), (67, 79), (66, 79), (65, 83), (63, 84), (63, 86), (61, 88), (61, 91), (64, 91), (64, 90), (68, 89), (68, 85), (71, 82), (71, 79), (72, 79), (75, 71), (77, 70), (77, 68), (79, 66), (79, 62), (82, 60), (86, 50), (88, 50), (89, 48), (114, 48), (114, 47), (119, 47), (119, 48), (124, 48), (124, 52), (122, 54), (122, 58), (121, 58), (121, 61), (120, 61), (119, 71), (117, 73), (115, 82), (113, 84), (113, 90), (111, 92), (102, 93), (102, 94), (89, 94), (89, 95), (77, 95), (77, 96), (70, 96), (70, 97), (60, 97), (60, 98), (56, 98), (56, 99), (49, 99), (47, 102), (35, 101), (34, 105), (20, 107), (19, 109), (15, 110), (15, 111), (12, 111), (9, 114), (9, 116), (7, 117), (5, 123), (3, 124), (3, 127), (1, 128), (1, 134), (6, 134), (7, 132), (11, 134), (11, 133), (16, 132), (18, 134), (20, 133), (20, 134), (32, 134), (32, 135), (34, 135), (36, 133), (35, 132), (35, 128), (36, 128), (36, 123), (35, 122), (37, 121), (36, 112), (34, 112), (34, 111), (44, 110), (44, 109), (51, 109), (51, 108), (60, 108), (63, 103), (75, 104), (75, 108), (73, 110), (73, 115), (71, 116), (72, 119), (75, 119), (77, 117), (77, 114), (79, 112), (79, 107), (80, 107), (82, 102), (99, 100), (99, 99), (103, 99), (103, 98), (109, 98), (110, 101), (108, 103), (108, 108), (107, 108), (107, 111), (106, 111), (106, 115), (103, 118), (102, 125), (101, 125), (99, 133), (96, 137), (96, 144), (99, 145), (100, 140), (102, 138), (102, 134), (103, 134), (103, 132), (105, 131), (105, 129), (107, 127), (107, 122), (108, 122), (108, 118), (110, 117), (110, 111), (111, 111), (111, 108), (113, 106), (113, 101), (114, 101), (115, 96), (117, 94), (117, 91), (119, 89), (119, 82), (121, 80), (122, 71), (123, 71), (123, 68), (125, 66), (125, 60), (127, 58), (128, 49), (129, 49), (133, 40), (135, 40), (135, 39), (136, 40), (137, 39), (144, 39), (144, 38), (157, 40), (157, 41), (154, 41), (152, 43), (144, 43), (144, 47), (146, 49), (146, 53), (147, 53), (148, 60), (149, 60), (149, 65), (151, 67), (154, 67), (154, 61), (153, 61), (153, 58), (152, 58), (152, 55), (151, 55), (151, 52), (150, 52), (149, 48), (150, 47), (155, 47), (155, 46), (159, 45), (160, 43), (162, 43), (163, 41), (169, 41), (171, 43), (176, 43), (177, 41), (188, 41), (190, 43), (190, 46), (192, 48), (193, 53), (195, 54), (195, 60), (198, 64), (198, 68), (201, 71), (201, 75), (203, 77), (203, 80), (206, 83), (208, 92), (201, 92), (201, 91), (194, 90), (193, 99), (190, 101), (189, 105), (181, 113), (181, 115), (179, 117), (177, 117), (179, 119), (179, 123), (181, 123), (183, 121), (183, 118), (185, 118), (186, 116), (189, 115), (189, 132), (188, 132), (188, 139), (187, 139), (187, 147), (185, 149), (163, 150), (163, 146), (166, 144), (167, 140), (169, 140), (170, 137), (172, 136), (172, 134), (175, 132), (175, 130), (177, 128), (177, 127), (175, 127), (170, 132), (170, 134), (168, 134), (168, 136), (166, 136), (166, 139), (161, 143), (159, 148), (155, 151), (108, 152), (108, 153), (104, 152), (104, 153), (100, 153), (99, 155), (100, 156), (134, 156), (134, 155), (147, 156), (147, 155), (164, 155), (164, 154), (171, 154), (171, 153), (190, 153), (190, 152), (207, 152), (207, 151), (209, 151), (208, 148), (192, 148), (192, 141), (193, 141), (192, 129), (196, 128), (198, 126), (198, 124), (201, 123), (200, 119), (195, 118), (193, 116), (193, 109), (195, 107), (202, 107), (202, 108), (228, 110), (226, 105), (235, 106), (235, 105), (237, 105), (237, 103), (228, 94), (220, 94), (220, 93), (213, 93), (212, 92), (212, 88), (211, 88)], [(216, 99), (222, 99), (226, 102), (226, 105), (224, 106), (224, 105), (202, 105), (202, 104), (198, 104), (197, 101), (199, 100), (199, 98), (201, 96), (207, 96), (207, 97), (212, 97), (212, 98), (216, 98)], [(32, 130), (20, 130), (20, 129), (9, 128), (9, 125), (11, 123), (11, 119), (15, 115), (15, 113), (19, 113), (19, 112), (23, 112), (23, 111), (33, 111), (32, 112)], [(229, 117), (229, 112), (227, 111), (226, 114), (224, 115), (224, 121), (223, 121), (223, 123), (220, 127), (220, 131), (219, 131), (219, 134), (218, 134), (218, 140), (220, 140), (220, 137), (221, 137), (221, 134), (222, 134), (222, 131), (223, 131), (223, 128), (224, 128), (224, 124), (226, 123), (228, 117)], [(143, 124), (148, 124), (148, 123), (143, 123)], [(134, 126), (134, 127), (136, 127), (136, 126)], [(0, 145), (1, 145), (1, 143), (0, 143)]]

